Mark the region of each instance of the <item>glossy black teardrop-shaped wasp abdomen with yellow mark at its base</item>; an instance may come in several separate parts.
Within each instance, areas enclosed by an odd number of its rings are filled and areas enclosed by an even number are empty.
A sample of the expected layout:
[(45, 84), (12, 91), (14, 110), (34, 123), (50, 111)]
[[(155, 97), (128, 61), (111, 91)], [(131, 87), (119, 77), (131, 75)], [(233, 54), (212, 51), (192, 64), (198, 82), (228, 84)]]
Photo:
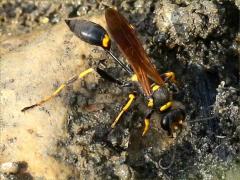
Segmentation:
[(91, 21), (86, 20), (65, 20), (70, 30), (81, 40), (103, 49), (109, 50), (111, 47), (111, 40), (106, 30)]

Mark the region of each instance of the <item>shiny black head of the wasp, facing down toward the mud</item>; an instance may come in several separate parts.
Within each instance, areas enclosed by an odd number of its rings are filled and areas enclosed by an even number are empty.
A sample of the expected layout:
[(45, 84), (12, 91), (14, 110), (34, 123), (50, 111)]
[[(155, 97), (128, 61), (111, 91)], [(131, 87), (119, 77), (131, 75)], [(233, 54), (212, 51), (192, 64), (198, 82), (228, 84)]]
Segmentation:
[(161, 121), (161, 126), (164, 130), (172, 135), (174, 132), (183, 128), (183, 121), (185, 120), (185, 112), (182, 109), (173, 109), (165, 114)]

